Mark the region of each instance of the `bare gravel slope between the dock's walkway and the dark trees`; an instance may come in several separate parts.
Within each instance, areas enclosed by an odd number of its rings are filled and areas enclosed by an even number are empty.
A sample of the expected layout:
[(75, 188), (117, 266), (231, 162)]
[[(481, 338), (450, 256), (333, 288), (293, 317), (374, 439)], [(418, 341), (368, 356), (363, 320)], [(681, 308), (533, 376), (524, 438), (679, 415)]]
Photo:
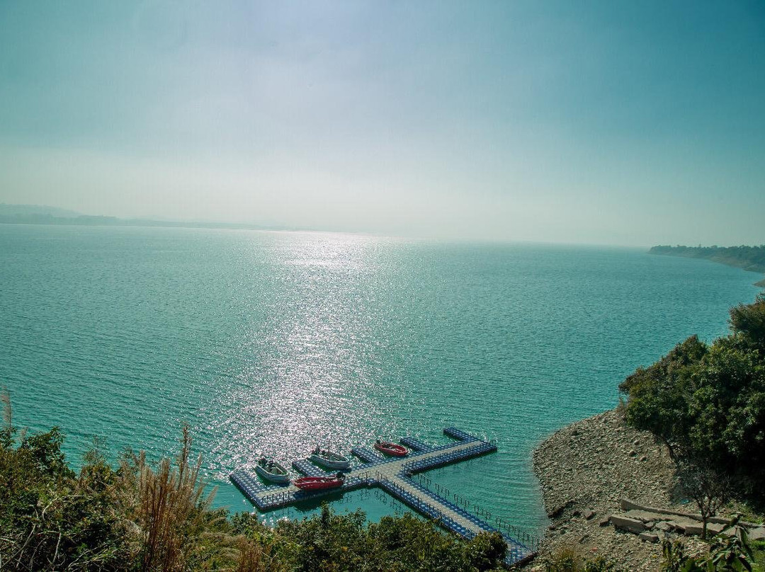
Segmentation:
[[(626, 427), (617, 410), (556, 431), (535, 450), (534, 470), (552, 524), (529, 570), (543, 570), (545, 558), (561, 548), (588, 557), (601, 554), (622, 570), (659, 570), (660, 543), (643, 541), (602, 522), (622, 512), (621, 499), (665, 509), (692, 509), (673, 502), (672, 461), (666, 447), (656, 444), (651, 434)], [(702, 550), (699, 541), (684, 541), (689, 551)]]

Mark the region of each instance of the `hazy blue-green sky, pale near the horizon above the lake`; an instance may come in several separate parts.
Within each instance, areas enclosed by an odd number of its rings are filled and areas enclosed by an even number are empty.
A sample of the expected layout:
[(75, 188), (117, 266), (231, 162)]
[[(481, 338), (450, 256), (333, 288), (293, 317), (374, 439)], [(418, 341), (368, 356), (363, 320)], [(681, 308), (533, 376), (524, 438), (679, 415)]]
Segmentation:
[(0, 0), (0, 203), (763, 244), (765, 4)]

